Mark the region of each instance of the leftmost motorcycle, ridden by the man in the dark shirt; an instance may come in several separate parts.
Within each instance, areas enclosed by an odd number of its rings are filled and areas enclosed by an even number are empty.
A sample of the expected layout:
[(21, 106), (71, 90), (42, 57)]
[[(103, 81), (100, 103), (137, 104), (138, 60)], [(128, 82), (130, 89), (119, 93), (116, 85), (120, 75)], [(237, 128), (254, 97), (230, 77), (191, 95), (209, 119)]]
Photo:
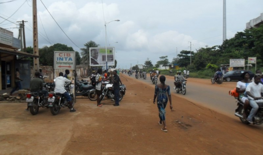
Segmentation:
[(48, 108), (48, 105), (45, 104), (44, 94), (40, 92), (30, 92), (27, 93), (26, 96), (27, 96), (26, 102), (28, 104), (29, 111), (32, 115), (38, 114), (39, 107)]

